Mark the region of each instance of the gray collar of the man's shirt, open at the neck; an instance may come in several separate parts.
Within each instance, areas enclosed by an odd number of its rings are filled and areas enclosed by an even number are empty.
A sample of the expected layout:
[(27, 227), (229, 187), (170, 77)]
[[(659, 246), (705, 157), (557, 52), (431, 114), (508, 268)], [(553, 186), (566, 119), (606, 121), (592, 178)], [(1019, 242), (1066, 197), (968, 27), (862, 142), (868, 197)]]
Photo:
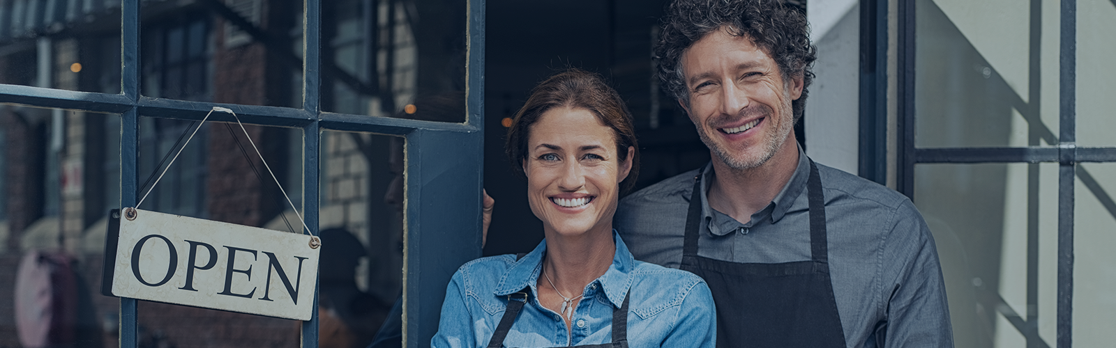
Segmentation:
[[(797, 144), (796, 144), (797, 145)], [(806, 181), (810, 175), (810, 160), (806, 157), (806, 152), (802, 151), (801, 146), (798, 147), (798, 166), (795, 168), (795, 174), (791, 174), (790, 180), (787, 184), (782, 186), (779, 194), (771, 200), (771, 203), (760, 211), (752, 214), (751, 221), (741, 224), (740, 222), (732, 220), (727, 214), (718, 212), (709, 206), (709, 185), (713, 182), (715, 173), (713, 173), (713, 163), (710, 162), (705, 164), (702, 170), (701, 176), (701, 203), (702, 203), (702, 216), (710, 233), (714, 235), (725, 235), (733, 232), (733, 228), (725, 226), (725, 224), (716, 223), (714, 221), (730, 220), (735, 222), (734, 225), (740, 225), (743, 228), (751, 228), (757, 221), (761, 221), (764, 218), (770, 216), (771, 223), (777, 223), (787, 214), (790, 210), (795, 200), (806, 190)], [(720, 215), (719, 219), (714, 220), (714, 215)]]

